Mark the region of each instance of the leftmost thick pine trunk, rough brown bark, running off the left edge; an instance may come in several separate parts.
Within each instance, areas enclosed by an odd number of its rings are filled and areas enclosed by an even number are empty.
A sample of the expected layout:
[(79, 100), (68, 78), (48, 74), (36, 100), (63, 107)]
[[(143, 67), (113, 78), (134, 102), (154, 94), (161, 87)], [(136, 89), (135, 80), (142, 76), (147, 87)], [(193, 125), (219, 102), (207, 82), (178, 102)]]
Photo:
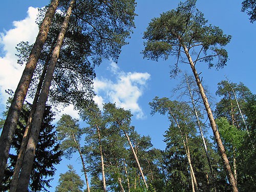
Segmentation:
[(6, 117), (6, 121), (0, 137), (0, 183), (2, 183), (4, 177), (4, 170), (9, 156), (13, 135), (17, 127), (19, 114), (22, 110), (29, 84), (36, 67), (36, 63), (40, 56), (42, 47), (45, 44), (55, 10), (58, 6), (58, 2), (59, 0), (52, 0), (51, 4), (49, 5), (45, 18), (42, 21), (41, 27), (39, 29), (39, 33), (36, 37), (35, 44), (31, 50), (28, 62), (23, 71), (22, 77), (19, 80), (8, 115)]

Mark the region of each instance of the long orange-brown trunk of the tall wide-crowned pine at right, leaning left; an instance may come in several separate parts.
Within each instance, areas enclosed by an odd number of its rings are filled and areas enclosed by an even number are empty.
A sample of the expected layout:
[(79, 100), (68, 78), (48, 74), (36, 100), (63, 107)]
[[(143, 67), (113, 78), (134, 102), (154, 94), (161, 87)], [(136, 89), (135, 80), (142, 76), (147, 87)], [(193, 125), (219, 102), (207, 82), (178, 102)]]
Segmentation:
[(221, 158), (222, 158), (223, 165), (224, 165), (224, 168), (225, 168), (225, 171), (226, 171), (226, 174), (227, 174), (228, 181), (229, 181), (229, 183), (231, 185), (232, 191), (233, 192), (237, 192), (238, 188), (237, 188), (237, 185), (236, 185), (236, 181), (234, 179), (231, 167), (229, 165), (229, 162), (228, 162), (228, 159), (227, 159), (227, 155), (225, 153), (225, 149), (224, 149), (224, 146), (223, 146), (221, 138), (220, 138), (220, 133), (219, 133), (219, 131), (217, 129), (217, 125), (216, 125), (214, 116), (212, 115), (208, 99), (207, 99), (207, 97), (206, 97), (206, 95), (204, 93), (204, 89), (203, 89), (202, 83), (200, 81), (199, 75), (197, 73), (197, 70), (195, 68), (194, 62), (193, 62), (192, 58), (190, 57), (190, 54), (189, 54), (186, 46), (183, 45), (183, 49), (184, 49), (184, 52), (185, 52), (185, 54), (187, 56), (187, 59), (189, 61), (190, 68), (193, 71), (193, 74), (194, 74), (196, 82), (197, 82), (197, 86), (199, 88), (201, 97), (203, 99), (205, 110), (207, 112), (207, 116), (208, 116), (209, 121), (210, 121), (212, 132), (214, 133), (214, 137), (215, 137), (215, 141), (216, 141), (217, 146), (218, 146), (218, 150), (219, 150), (219, 152), (221, 154)]

